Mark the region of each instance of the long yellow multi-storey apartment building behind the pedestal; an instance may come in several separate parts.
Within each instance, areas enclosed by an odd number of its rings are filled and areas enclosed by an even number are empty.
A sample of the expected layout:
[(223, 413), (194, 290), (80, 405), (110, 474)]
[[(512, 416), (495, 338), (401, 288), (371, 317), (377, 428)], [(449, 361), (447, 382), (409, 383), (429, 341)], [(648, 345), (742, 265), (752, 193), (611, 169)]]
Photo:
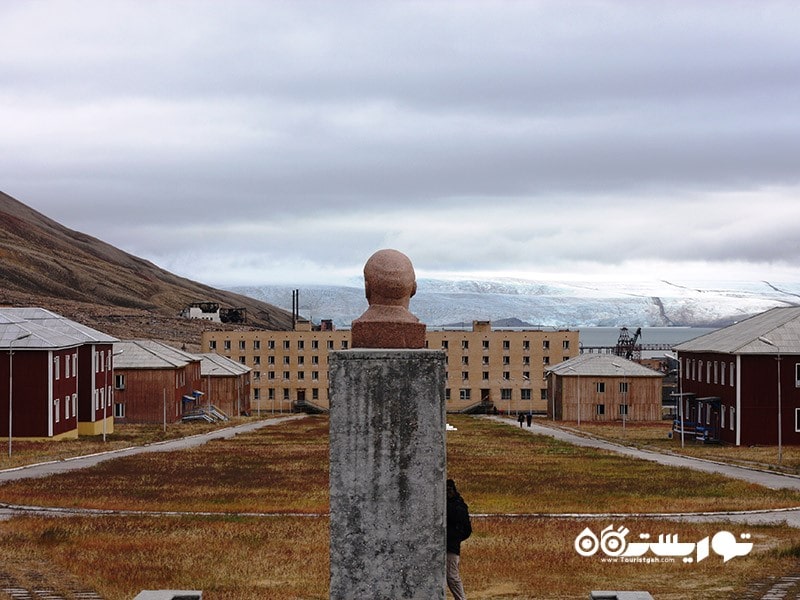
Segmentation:
[[(448, 412), (496, 409), (546, 412), (545, 370), (580, 353), (577, 330), (429, 329), (426, 347), (447, 355)], [(207, 331), (202, 351), (252, 369), (251, 408), (287, 412), (328, 409), (328, 352), (350, 348), (350, 330)]]

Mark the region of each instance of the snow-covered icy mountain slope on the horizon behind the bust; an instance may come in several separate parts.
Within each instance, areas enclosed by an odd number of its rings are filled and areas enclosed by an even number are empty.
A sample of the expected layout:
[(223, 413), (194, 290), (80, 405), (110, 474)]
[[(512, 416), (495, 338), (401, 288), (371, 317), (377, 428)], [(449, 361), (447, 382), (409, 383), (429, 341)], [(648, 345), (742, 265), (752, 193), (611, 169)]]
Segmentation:
[[(362, 282), (352, 286), (264, 285), (232, 291), (332, 319), (347, 328), (367, 308)], [(429, 327), (473, 320), (519, 319), (544, 327), (719, 327), (775, 306), (800, 304), (800, 283), (644, 281), (545, 282), (522, 279), (420, 279), (411, 312)]]

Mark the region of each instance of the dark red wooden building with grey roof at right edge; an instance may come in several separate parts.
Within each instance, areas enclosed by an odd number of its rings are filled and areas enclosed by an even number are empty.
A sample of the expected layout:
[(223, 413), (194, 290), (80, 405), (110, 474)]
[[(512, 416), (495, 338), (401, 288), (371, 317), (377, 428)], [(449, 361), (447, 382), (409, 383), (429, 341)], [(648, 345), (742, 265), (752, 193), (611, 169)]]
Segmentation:
[(774, 308), (675, 351), (676, 432), (737, 446), (800, 444), (800, 307)]

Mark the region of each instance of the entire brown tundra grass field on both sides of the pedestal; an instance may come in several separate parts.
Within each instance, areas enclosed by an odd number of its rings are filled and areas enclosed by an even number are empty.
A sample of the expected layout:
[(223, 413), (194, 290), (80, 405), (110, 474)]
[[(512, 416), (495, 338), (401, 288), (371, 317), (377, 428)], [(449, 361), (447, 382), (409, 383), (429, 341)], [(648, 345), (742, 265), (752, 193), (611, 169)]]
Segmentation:
[[(800, 573), (800, 533), (642, 518), (647, 513), (800, 506), (800, 495), (577, 448), (488, 420), (450, 417), (448, 472), (476, 516), (463, 545), (470, 598), (586, 598), (644, 589), (658, 600), (742, 598), (749, 586)], [(327, 598), (328, 421), (308, 417), (182, 452), (0, 486), (0, 502), (214, 515), (17, 517), (0, 522), (5, 574), (52, 589), (78, 583), (107, 600), (142, 589), (203, 589), (206, 600)], [(238, 513), (238, 514), (237, 514)], [(269, 513), (247, 516), (245, 513)], [(508, 513), (536, 516), (506, 516)], [(697, 542), (749, 533), (727, 562), (611, 562), (580, 556), (576, 537), (608, 525)], [(26, 579), (27, 578), (27, 579)], [(0, 597), (2, 594), (0, 593)]]

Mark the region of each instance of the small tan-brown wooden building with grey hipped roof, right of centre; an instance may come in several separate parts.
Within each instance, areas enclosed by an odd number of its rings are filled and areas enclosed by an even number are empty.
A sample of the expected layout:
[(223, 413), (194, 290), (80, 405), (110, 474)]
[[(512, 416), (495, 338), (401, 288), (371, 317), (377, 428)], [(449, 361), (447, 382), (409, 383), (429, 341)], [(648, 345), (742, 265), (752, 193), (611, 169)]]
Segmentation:
[(547, 371), (558, 421), (658, 421), (664, 374), (612, 354), (581, 354)]

